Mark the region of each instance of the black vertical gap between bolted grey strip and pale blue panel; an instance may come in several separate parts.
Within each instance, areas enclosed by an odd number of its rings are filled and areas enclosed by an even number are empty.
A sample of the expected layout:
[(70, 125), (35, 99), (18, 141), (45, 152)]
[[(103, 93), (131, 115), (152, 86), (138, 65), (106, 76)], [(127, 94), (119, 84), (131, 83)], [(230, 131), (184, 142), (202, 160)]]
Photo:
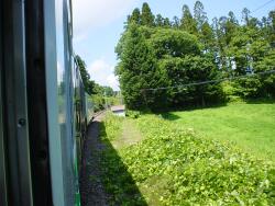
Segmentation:
[(29, 138), (34, 205), (52, 205), (43, 1), (25, 1)]

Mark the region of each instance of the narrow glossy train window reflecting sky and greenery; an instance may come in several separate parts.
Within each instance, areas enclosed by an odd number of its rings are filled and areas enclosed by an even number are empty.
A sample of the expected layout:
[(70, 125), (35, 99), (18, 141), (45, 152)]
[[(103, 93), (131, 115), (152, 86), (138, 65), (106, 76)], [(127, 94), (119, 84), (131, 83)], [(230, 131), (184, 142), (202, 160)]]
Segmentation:
[[(75, 168), (76, 144), (74, 141), (72, 121), (72, 49), (69, 46), (70, 34), (68, 32), (68, 4), (66, 0), (56, 0), (56, 49), (57, 49), (57, 84), (58, 84), (58, 123), (62, 138), (63, 172), (65, 188), (65, 205), (74, 205), (77, 193), (77, 174)], [(74, 78), (74, 76), (73, 76)]]

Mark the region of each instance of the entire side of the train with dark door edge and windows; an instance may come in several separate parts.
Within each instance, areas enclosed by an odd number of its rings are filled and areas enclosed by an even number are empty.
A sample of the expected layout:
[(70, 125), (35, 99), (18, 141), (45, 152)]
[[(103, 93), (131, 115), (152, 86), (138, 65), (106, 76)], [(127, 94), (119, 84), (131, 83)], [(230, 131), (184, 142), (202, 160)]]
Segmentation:
[(80, 205), (92, 104), (72, 37), (69, 0), (0, 1), (1, 206)]

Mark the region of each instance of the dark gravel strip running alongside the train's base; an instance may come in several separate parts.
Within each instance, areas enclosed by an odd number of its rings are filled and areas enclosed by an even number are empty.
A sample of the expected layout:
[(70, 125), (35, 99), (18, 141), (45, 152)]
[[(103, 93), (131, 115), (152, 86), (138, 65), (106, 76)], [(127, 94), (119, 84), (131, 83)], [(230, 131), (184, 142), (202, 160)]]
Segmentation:
[(82, 169), (80, 175), (80, 194), (82, 206), (108, 205), (108, 195), (105, 193), (100, 181), (100, 156), (103, 149), (100, 142), (100, 122), (105, 113), (97, 116), (89, 125), (87, 139), (82, 151)]

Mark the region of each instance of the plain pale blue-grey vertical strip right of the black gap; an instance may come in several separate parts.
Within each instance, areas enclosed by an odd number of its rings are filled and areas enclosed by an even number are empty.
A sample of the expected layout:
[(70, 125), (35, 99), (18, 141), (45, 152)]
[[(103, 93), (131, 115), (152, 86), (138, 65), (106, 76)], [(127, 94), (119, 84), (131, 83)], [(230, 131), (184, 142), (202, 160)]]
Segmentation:
[[(54, 11), (54, 12), (53, 12)], [(44, 1), (45, 70), (48, 117), (50, 162), (52, 175), (53, 205), (65, 206), (63, 178), (63, 153), (58, 122), (58, 80), (57, 80), (57, 39), (56, 1)], [(56, 68), (56, 69), (53, 69)]]

